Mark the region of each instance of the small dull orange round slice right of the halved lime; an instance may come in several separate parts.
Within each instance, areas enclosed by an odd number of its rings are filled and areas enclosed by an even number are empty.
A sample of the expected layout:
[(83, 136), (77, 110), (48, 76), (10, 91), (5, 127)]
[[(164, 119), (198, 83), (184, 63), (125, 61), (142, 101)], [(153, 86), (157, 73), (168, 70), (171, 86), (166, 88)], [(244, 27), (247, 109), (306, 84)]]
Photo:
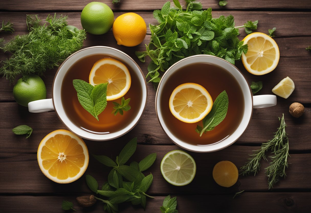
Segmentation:
[(238, 168), (231, 161), (220, 161), (213, 169), (215, 182), (222, 187), (231, 187), (238, 181)]

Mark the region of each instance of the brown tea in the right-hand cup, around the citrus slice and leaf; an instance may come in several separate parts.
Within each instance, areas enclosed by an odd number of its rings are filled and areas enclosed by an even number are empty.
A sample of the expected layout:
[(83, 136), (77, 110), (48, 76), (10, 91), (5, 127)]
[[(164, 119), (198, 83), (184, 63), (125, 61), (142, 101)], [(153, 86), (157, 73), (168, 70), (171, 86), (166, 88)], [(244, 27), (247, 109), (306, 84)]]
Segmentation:
[[(169, 97), (183, 83), (202, 85), (210, 93), (213, 102), (222, 91), (225, 90), (228, 94), (227, 116), (214, 130), (203, 133), (202, 137), (195, 131), (197, 125), (203, 125), (202, 121), (184, 123), (169, 110)], [(169, 77), (163, 87), (160, 107), (164, 122), (175, 137), (189, 144), (208, 145), (224, 140), (237, 129), (244, 113), (244, 98), (241, 87), (228, 71), (212, 64), (198, 63), (185, 66)]]

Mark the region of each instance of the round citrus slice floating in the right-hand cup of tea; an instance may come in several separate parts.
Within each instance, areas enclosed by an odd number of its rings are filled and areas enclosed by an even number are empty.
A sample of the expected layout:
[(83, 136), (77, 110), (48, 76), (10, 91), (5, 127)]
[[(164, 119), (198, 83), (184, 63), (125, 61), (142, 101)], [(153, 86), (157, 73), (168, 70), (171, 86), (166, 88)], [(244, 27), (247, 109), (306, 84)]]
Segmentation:
[(169, 98), (171, 113), (185, 123), (201, 121), (211, 111), (212, 106), (211, 95), (197, 83), (179, 85)]

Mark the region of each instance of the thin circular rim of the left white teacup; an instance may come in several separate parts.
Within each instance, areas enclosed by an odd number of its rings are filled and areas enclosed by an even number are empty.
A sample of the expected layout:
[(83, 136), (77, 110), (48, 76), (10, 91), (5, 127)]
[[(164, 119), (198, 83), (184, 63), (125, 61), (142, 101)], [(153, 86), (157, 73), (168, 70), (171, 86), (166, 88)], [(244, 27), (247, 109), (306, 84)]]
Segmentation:
[[(57, 110), (56, 110), (56, 107), (55, 107), (55, 103), (54, 103), (54, 83), (55, 83), (56, 76), (57, 76), (59, 70), (61, 69), (61, 67), (63, 66), (63, 64), (64, 64), (69, 58), (71, 58), (73, 55), (75, 55), (75, 54), (77, 54), (77, 53), (80, 53), (81, 51), (88, 50), (88, 49), (93, 49), (93, 48), (103, 48), (103, 49), (115, 50), (115, 51), (117, 51), (118, 53), (123, 54), (123, 55), (126, 56), (128, 59), (130, 59), (130, 60), (134, 63), (134, 65), (138, 68), (138, 70), (140, 71), (140, 73), (142, 74), (143, 79), (144, 79), (144, 81), (143, 81), (144, 83), (142, 84), (142, 87), (145, 88), (145, 90), (146, 90), (145, 102), (143, 102), (143, 100), (142, 100), (142, 104), (140, 105), (141, 108), (143, 107), (143, 109), (142, 109), (141, 113), (138, 112), (138, 114), (137, 114), (137, 116), (136, 116), (136, 117), (139, 117), (138, 120), (137, 120), (137, 122), (136, 122), (135, 124), (130, 124), (130, 125), (132, 125), (131, 128), (129, 128), (127, 131), (123, 132), (122, 134), (117, 135), (117, 136), (106, 137), (106, 138), (104, 138), (104, 139), (102, 139), (102, 138), (95, 139), (95, 138), (86, 137), (86, 136), (84, 136), (84, 135), (79, 134), (77, 131), (74, 131), (74, 130), (72, 130), (71, 128), (69, 128), (69, 127), (66, 125), (66, 123), (63, 121), (63, 119), (59, 116), (59, 114), (58, 114), (58, 112), (57, 112)], [(67, 72), (66, 72), (66, 73), (67, 73)], [(137, 75), (138, 75), (138, 73), (137, 73)], [(140, 81), (140, 82), (141, 82), (141, 81)], [(63, 83), (63, 81), (62, 81), (62, 83)], [(78, 51), (72, 53), (71, 55), (69, 55), (69, 56), (62, 62), (62, 64), (59, 65), (59, 67), (58, 67), (58, 69), (57, 69), (57, 71), (56, 71), (56, 73), (55, 73), (55, 76), (54, 76), (54, 79), (53, 79), (53, 84), (52, 84), (52, 102), (53, 102), (53, 107), (54, 107), (55, 113), (56, 113), (56, 115), (58, 116), (59, 120), (62, 121), (62, 123), (66, 126), (66, 128), (67, 128), (68, 130), (72, 131), (74, 134), (80, 136), (81, 138), (85, 138), (85, 139), (87, 139), (87, 140), (93, 140), (93, 141), (107, 141), (107, 140), (113, 140), (113, 139), (116, 139), (116, 138), (118, 138), (118, 137), (121, 137), (122, 135), (125, 135), (126, 133), (128, 133), (129, 131), (131, 131), (131, 130), (137, 125), (137, 123), (140, 121), (140, 119), (142, 118), (142, 115), (143, 115), (143, 113), (144, 113), (144, 111), (145, 111), (145, 109), (146, 109), (147, 97), (148, 97), (147, 82), (146, 82), (145, 75), (144, 75), (144, 73), (142, 72), (142, 69), (140, 68), (140, 66), (139, 66), (139, 65), (136, 63), (136, 61), (135, 61), (134, 59), (132, 59), (132, 57), (129, 56), (128, 54), (124, 53), (124, 52), (121, 51), (121, 50), (118, 50), (118, 49), (113, 48), (113, 47), (108, 47), (108, 46), (91, 46), (91, 47), (86, 47), (86, 48), (83, 48), (83, 49), (81, 49), (81, 50), (78, 50)], [(144, 97), (142, 97), (142, 99), (144, 99)], [(141, 110), (141, 108), (140, 108), (140, 110)], [(136, 117), (135, 117), (135, 118), (136, 118)], [(83, 130), (83, 131), (85, 131), (85, 130)], [(107, 135), (109, 135), (109, 134), (104, 134), (104, 135), (107, 136)]]

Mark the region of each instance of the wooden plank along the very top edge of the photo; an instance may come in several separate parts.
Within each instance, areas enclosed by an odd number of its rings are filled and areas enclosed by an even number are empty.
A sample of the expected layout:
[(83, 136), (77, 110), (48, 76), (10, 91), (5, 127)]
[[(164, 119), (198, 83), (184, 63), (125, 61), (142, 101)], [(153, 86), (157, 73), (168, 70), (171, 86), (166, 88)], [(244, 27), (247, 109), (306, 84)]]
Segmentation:
[[(163, 4), (167, 2), (167, 0), (158, 0), (158, 1), (144, 1), (144, 0), (136, 0), (136, 1), (126, 1), (121, 0), (120, 4), (113, 5), (112, 0), (103, 1), (112, 10), (154, 10), (161, 9)], [(170, 1), (171, 5), (173, 1)], [(185, 2), (183, 0), (179, 0), (183, 6)], [(200, 0), (202, 2), (203, 8), (212, 7), (217, 10), (226, 10), (226, 9), (236, 9), (236, 10), (244, 10), (244, 9), (309, 9), (311, 8), (311, 3), (308, 0), (301, 0), (293, 3), (290, 0), (283, 1), (271, 1), (271, 0), (262, 0), (260, 3), (256, 0), (243, 1), (243, 0), (235, 0), (234, 2), (228, 2), (225, 7), (220, 7), (218, 1), (214, 0)], [(2, 10), (82, 10), (87, 2), (83, 0), (76, 0), (74, 4), (68, 4), (66, 1), (53, 1), (46, 2), (42, 0), (34, 0), (34, 1), (22, 1), (22, 0), (4, 0), (1, 5)], [(16, 7), (18, 5), (18, 7)], [(185, 6), (183, 8), (186, 8)]]

